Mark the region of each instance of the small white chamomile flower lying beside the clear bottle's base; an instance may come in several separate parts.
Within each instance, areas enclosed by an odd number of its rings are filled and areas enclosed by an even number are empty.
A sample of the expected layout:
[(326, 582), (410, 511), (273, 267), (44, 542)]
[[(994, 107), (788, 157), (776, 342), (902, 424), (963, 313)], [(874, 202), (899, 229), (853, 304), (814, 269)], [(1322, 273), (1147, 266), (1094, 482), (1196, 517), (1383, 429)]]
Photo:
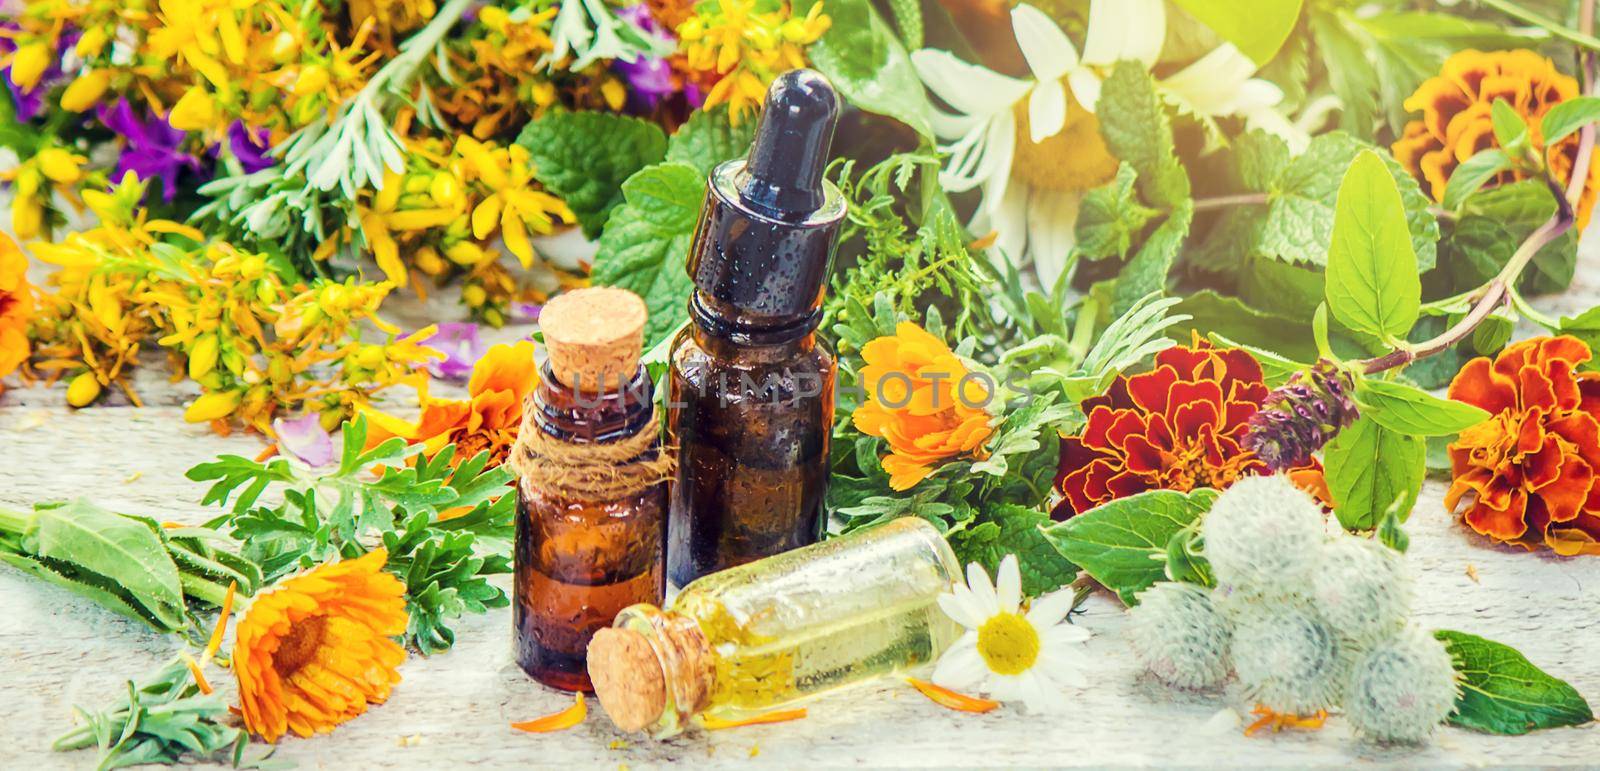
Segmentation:
[(981, 691), (998, 701), (1021, 701), (1030, 712), (1059, 710), (1067, 688), (1085, 688), (1080, 653), (1069, 648), (1090, 633), (1064, 624), (1072, 592), (1061, 590), (1022, 606), (1022, 574), (1016, 555), (1000, 560), (998, 581), (978, 563), (966, 566), (966, 585), (939, 595), (939, 608), (966, 627), (939, 657), (933, 681), (955, 691)]

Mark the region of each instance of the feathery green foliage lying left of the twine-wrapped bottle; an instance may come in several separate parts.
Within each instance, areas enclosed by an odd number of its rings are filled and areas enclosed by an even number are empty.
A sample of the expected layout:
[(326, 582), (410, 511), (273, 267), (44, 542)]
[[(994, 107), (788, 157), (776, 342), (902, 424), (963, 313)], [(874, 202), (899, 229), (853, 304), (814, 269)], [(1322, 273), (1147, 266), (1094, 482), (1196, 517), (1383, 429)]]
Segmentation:
[[(454, 445), (432, 457), (400, 438), (365, 445), (366, 419), (357, 417), (344, 424), (331, 469), (222, 456), (189, 478), (211, 481), (203, 502), (229, 509), (206, 526), (245, 544), (267, 581), (384, 547), (386, 569), (406, 585), (406, 643), (424, 654), (448, 649), (450, 619), (509, 603), (488, 576), (510, 573), (512, 473), (488, 467), (488, 453), (451, 467)], [(262, 504), (269, 493), (282, 502)]]

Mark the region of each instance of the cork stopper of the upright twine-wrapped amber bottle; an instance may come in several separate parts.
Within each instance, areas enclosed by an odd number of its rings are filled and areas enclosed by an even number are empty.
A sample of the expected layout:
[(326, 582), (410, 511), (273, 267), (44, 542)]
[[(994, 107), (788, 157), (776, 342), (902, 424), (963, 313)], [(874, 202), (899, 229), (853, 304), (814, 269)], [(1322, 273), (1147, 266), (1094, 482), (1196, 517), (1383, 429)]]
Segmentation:
[(557, 296), (539, 312), (550, 371), (584, 392), (621, 390), (638, 371), (645, 301), (627, 290), (589, 286)]

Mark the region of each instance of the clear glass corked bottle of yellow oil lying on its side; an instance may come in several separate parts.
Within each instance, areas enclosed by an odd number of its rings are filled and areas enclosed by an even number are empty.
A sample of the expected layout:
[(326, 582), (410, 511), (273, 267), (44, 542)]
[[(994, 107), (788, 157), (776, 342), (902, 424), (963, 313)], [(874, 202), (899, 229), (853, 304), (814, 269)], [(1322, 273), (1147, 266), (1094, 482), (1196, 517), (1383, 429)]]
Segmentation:
[(938, 603), (958, 577), (944, 536), (902, 517), (627, 608), (595, 633), (589, 673), (624, 731), (752, 717), (938, 659), (962, 632)]

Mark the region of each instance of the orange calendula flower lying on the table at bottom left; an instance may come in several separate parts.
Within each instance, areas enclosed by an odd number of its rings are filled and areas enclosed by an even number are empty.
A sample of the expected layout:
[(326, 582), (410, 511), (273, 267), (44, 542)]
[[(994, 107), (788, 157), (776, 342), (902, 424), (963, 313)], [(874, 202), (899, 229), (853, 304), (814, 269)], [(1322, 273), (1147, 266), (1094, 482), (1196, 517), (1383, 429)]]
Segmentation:
[(245, 728), (269, 742), (333, 731), (400, 681), (405, 585), (382, 549), (278, 582), (250, 605), (234, 640)]

